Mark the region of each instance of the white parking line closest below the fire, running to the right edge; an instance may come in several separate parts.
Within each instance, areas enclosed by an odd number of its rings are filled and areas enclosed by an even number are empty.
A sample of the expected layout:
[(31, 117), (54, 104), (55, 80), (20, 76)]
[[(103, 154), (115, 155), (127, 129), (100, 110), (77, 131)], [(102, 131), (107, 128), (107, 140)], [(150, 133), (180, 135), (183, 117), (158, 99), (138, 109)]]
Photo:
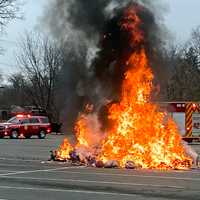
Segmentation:
[[(48, 173), (53, 173), (49, 171)], [(161, 175), (137, 175), (137, 174), (116, 174), (116, 173), (102, 173), (102, 172), (74, 172), (74, 171), (56, 171), (56, 173), (64, 174), (80, 174), (80, 175), (103, 175), (103, 176), (120, 176), (120, 177), (141, 177), (141, 178), (156, 178), (156, 179), (175, 179), (175, 180), (189, 180), (189, 181), (200, 181), (200, 178), (187, 178), (187, 177), (176, 177), (176, 176), (161, 176)]]

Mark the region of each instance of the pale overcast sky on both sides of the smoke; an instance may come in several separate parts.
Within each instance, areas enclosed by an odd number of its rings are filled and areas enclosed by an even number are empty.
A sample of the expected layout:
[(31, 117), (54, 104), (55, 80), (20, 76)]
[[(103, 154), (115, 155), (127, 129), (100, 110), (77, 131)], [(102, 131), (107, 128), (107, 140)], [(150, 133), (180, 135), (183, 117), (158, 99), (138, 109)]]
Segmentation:
[[(153, 0), (152, 0), (153, 1)], [(200, 0), (161, 0), (168, 8), (165, 14), (165, 24), (176, 38), (177, 42), (183, 42), (189, 38), (193, 28), (200, 25)], [(48, 0), (26, 0), (23, 7), (25, 20), (13, 21), (6, 28), (6, 35), (0, 37), (0, 46), (5, 49), (4, 55), (0, 55), (0, 71), (4, 75), (16, 71), (15, 52), (17, 40), (25, 30), (33, 30), (45, 3)]]

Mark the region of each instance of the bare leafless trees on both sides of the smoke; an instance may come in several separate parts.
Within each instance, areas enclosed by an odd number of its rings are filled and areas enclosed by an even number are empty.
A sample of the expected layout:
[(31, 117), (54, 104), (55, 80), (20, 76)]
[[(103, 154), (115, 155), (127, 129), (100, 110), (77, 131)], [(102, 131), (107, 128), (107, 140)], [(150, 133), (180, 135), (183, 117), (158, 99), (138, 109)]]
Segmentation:
[[(16, 2), (0, 0), (1, 28), (19, 17)], [(4, 89), (0, 89), (0, 105), (42, 107), (48, 111), (52, 121), (59, 122), (66, 104), (65, 84), (72, 84), (63, 81), (66, 77), (62, 72), (69, 62), (66, 62), (65, 47), (61, 46), (42, 33), (24, 34), (16, 52), (18, 72), (9, 75)], [(161, 69), (167, 68), (164, 86), (159, 91), (161, 101), (199, 101), (200, 27), (192, 31), (185, 44), (163, 49), (159, 65)]]

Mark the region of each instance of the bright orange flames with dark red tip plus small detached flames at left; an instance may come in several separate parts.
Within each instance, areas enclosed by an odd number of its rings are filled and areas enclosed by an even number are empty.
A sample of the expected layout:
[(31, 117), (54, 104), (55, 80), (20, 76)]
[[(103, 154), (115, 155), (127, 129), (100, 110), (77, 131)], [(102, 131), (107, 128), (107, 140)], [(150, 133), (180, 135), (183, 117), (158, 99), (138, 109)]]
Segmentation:
[[(103, 163), (116, 161), (120, 167), (132, 162), (150, 169), (189, 168), (191, 159), (185, 155), (176, 124), (158, 105), (150, 102), (153, 73), (143, 47), (145, 38), (140, 28), (139, 9), (130, 7), (121, 20), (121, 29), (129, 33), (131, 46), (139, 48), (127, 60), (120, 101), (109, 108), (112, 126), (101, 141), (98, 139), (95, 159)], [(93, 145), (88, 137), (92, 135), (89, 126), (93, 123), (88, 123), (83, 116), (79, 117), (75, 128), (78, 141), (75, 148)], [(71, 148), (67, 141), (66, 144)], [(64, 147), (60, 150), (65, 151)]]

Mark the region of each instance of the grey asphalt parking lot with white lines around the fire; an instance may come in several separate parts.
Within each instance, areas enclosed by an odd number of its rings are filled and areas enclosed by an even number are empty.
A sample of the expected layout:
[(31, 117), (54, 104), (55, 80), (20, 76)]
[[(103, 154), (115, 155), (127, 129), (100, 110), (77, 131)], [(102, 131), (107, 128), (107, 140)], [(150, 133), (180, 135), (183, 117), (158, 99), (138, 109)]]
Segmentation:
[(199, 169), (97, 169), (48, 162), (49, 151), (63, 137), (0, 140), (0, 199), (200, 199)]

